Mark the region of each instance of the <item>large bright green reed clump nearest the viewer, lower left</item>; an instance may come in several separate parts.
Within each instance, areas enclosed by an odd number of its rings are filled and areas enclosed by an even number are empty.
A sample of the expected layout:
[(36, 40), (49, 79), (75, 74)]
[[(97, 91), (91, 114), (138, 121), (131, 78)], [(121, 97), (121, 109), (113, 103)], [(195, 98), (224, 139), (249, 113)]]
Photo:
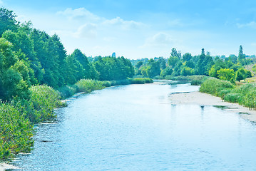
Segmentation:
[(0, 103), (0, 160), (14, 157), (18, 152), (30, 152), (34, 143), (32, 125), (18, 108)]

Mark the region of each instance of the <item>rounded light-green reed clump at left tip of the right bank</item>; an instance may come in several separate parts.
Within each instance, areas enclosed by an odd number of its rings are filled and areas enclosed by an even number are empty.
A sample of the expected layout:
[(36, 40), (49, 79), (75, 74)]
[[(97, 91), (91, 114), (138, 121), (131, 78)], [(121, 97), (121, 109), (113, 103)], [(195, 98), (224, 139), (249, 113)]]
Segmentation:
[(222, 81), (217, 78), (208, 78), (200, 86), (200, 92), (209, 93), (211, 95), (218, 95), (221, 90), (226, 88), (235, 88), (229, 81)]

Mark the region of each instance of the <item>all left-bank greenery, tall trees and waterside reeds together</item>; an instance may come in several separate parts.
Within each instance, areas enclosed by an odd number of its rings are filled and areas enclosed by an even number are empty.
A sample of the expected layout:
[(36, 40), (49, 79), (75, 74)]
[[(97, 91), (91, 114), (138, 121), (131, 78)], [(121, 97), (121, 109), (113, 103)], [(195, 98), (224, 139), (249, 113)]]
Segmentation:
[[(79, 49), (68, 55), (60, 38), (21, 24), (0, 9), (0, 160), (29, 152), (33, 125), (56, 117), (61, 99), (108, 86), (152, 83), (133, 78), (130, 61), (121, 57), (87, 57)], [(128, 79), (129, 78), (129, 79)]]

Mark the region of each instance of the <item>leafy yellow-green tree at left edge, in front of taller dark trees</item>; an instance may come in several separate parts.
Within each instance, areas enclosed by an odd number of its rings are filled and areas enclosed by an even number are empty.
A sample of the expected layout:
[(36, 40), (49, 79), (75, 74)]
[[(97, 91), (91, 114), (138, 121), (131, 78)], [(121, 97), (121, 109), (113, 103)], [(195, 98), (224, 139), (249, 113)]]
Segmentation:
[(11, 50), (12, 44), (0, 38), (0, 99), (11, 100), (15, 96), (29, 95), (29, 70)]

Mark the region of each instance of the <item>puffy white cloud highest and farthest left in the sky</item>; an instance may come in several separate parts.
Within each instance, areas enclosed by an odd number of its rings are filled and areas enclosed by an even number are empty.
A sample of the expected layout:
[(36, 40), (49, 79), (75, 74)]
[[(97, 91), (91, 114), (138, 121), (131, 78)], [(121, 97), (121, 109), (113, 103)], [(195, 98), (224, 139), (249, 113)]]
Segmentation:
[(101, 17), (92, 14), (85, 8), (71, 9), (68, 8), (65, 11), (58, 11), (57, 14), (68, 17), (68, 19), (86, 19), (89, 21), (98, 21)]

